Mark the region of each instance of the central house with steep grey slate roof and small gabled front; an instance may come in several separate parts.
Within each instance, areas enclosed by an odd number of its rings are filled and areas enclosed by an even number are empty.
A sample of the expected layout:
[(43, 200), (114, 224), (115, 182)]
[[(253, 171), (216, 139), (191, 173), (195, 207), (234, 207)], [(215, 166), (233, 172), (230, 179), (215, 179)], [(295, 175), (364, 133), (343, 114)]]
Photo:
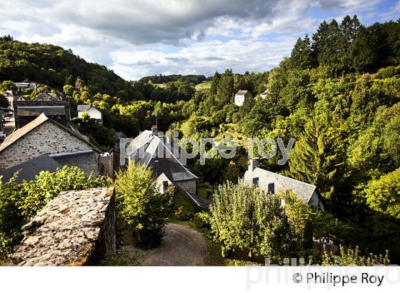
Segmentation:
[[(199, 179), (184, 167), (177, 158), (179, 149), (174, 149), (164, 137), (159, 137), (156, 126), (151, 131), (142, 131), (139, 136), (127, 147), (130, 160), (136, 164), (151, 167), (154, 177), (157, 178), (159, 189), (165, 192), (171, 184), (180, 187), (196, 204), (206, 206), (196, 197), (196, 182)], [(162, 155), (160, 155), (162, 154)]]

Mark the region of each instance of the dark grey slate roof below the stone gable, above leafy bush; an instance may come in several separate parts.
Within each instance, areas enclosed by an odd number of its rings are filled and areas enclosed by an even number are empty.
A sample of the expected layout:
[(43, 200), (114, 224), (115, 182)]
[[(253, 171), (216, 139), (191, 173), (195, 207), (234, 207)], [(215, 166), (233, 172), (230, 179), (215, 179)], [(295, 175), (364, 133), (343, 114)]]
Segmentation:
[(48, 154), (42, 154), (21, 164), (9, 167), (9, 169), (5, 169), (0, 172), (0, 177), (3, 177), (1, 179), (3, 183), (9, 182), (9, 179), (13, 177), (14, 173), (19, 171), (16, 177), (16, 183), (21, 184), (23, 181), (35, 179), (36, 175), (39, 175), (41, 171), (56, 172), (57, 169), (61, 168), (61, 164), (49, 157)]

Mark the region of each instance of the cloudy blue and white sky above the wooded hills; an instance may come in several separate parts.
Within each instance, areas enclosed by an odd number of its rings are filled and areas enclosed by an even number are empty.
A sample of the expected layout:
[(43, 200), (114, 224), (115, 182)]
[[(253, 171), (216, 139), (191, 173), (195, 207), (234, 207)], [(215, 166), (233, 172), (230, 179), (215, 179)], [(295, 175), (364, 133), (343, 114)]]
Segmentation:
[(0, 35), (72, 49), (128, 80), (266, 71), (321, 21), (397, 20), (400, 0), (0, 0)]

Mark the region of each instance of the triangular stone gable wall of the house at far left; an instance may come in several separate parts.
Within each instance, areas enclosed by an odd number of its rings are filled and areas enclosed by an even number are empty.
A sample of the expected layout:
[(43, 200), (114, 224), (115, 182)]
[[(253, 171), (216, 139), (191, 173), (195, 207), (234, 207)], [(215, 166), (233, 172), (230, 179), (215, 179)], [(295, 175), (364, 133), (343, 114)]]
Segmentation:
[(50, 121), (37, 126), (0, 153), (0, 170), (39, 156), (90, 151), (91, 146)]

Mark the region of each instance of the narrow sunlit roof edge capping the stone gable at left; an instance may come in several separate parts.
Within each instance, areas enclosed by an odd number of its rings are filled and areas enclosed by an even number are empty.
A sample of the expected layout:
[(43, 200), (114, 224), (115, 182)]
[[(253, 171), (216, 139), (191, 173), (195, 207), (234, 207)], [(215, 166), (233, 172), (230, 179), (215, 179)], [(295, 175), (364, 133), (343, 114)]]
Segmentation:
[(49, 121), (56, 126), (59, 126), (61, 129), (64, 129), (65, 131), (68, 131), (70, 134), (72, 134), (72, 135), (76, 136), (77, 138), (81, 139), (82, 141), (86, 142), (86, 144), (89, 144), (95, 152), (101, 153), (101, 151), (99, 149), (97, 149), (96, 146), (94, 146), (94, 144), (91, 144), (91, 142), (88, 139), (86, 139), (86, 137), (83, 134), (81, 134), (79, 131), (74, 131), (62, 124), (59, 124), (58, 122), (54, 121), (53, 119), (50, 119), (49, 117), (47, 117), (44, 113), (40, 114), (39, 116), (36, 117), (36, 119), (29, 122), (25, 126), (22, 126), (21, 128), (16, 129), (16, 131), (14, 131), (9, 136), (7, 136), (6, 139), (4, 140), (4, 142), (2, 144), (0, 144), (0, 153), (3, 152), (4, 149), (6, 149), (7, 147), (11, 146), (11, 144), (14, 144), (16, 141), (21, 139), (21, 137), (25, 136), (26, 134), (29, 134), (29, 132), (32, 131), (33, 129), (35, 129), (37, 126), (44, 124), (44, 122), (46, 122), (46, 121)]

